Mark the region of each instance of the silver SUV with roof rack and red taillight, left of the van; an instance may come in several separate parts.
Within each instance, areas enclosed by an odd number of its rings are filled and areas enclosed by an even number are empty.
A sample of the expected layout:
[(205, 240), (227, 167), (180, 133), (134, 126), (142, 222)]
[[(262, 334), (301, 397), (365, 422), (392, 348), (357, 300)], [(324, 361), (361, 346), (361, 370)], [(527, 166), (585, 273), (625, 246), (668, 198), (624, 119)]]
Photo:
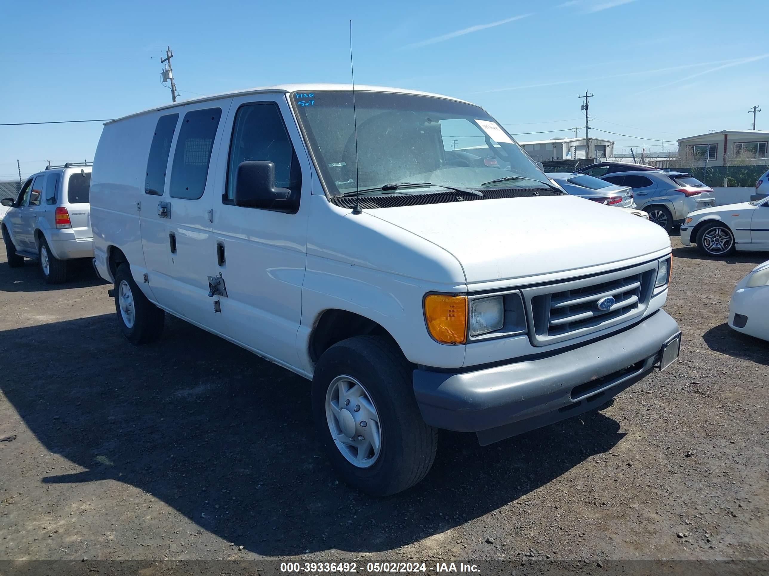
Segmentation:
[(93, 258), (91, 165), (69, 163), (32, 174), (18, 197), (5, 198), (2, 220), (8, 266), (37, 259), (45, 281), (62, 283), (67, 261)]

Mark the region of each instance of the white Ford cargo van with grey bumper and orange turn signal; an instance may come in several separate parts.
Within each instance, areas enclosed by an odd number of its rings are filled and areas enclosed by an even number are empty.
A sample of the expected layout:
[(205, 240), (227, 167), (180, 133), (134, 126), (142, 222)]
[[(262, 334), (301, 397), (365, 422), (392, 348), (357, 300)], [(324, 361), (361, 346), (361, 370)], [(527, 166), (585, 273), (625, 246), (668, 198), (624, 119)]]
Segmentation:
[(91, 206), (125, 336), (167, 312), (311, 379), (332, 464), (371, 494), (419, 482), (436, 429), (496, 442), (678, 354), (664, 230), (563, 194), (454, 98), (288, 85), (132, 114)]

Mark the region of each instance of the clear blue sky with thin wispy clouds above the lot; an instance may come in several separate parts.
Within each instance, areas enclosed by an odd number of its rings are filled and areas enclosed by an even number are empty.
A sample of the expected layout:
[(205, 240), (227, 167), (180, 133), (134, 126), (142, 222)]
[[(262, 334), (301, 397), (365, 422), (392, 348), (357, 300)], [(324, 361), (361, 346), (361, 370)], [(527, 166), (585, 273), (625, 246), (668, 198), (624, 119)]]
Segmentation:
[[(171, 45), (181, 98), (295, 81), (355, 80), (481, 104), (519, 141), (591, 136), (616, 151), (744, 129), (765, 104), (769, 2), (8, 2), (0, 123), (117, 118), (165, 104)], [(763, 100), (763, 101), (762, 101)], [(598, 129), (620, 132), (619, 136)], [(92, 160), (102, 126), (0, 127), (0, 179)], [(583, 131), (580, 131), (582, 135)], [(642, 138), (647, 138), (643, 140)], [(664, 143), (667, 141), (667, 144)]]

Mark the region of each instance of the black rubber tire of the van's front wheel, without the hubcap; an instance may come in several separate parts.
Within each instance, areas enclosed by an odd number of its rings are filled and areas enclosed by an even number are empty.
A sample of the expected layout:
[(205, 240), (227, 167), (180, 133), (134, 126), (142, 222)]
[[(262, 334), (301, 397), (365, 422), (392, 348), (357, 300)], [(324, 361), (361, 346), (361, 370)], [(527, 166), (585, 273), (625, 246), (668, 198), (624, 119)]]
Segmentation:
[[(413, 366), (391, 341), (354, 336), (321, 356), (312, 379), (312, 412), (328, 458), (338, 476), (374, 496), (402, 492), (430, 471), (438, 431), (424, 423), (411, 384)], [(378, 458), (368, 468), (348, 462), (331, 436), (326, 392), (338, 376), (351, 376), (365, 387), (381, 425)]]

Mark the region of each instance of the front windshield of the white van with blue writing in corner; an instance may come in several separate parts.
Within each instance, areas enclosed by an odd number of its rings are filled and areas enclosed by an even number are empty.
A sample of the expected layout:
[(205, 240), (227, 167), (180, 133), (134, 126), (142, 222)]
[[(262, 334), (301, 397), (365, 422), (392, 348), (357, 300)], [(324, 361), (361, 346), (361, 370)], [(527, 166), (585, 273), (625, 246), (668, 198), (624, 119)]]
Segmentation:
[[(328, 194), (392, 193), (388, 184), (551, 188), (547, 177), (482, 108), (417, 94), (294, 92), (291, 101)], [(358, 127), (356, 154), (355, 124)], [(501, 180), (492, 182), (492, 180)]]

